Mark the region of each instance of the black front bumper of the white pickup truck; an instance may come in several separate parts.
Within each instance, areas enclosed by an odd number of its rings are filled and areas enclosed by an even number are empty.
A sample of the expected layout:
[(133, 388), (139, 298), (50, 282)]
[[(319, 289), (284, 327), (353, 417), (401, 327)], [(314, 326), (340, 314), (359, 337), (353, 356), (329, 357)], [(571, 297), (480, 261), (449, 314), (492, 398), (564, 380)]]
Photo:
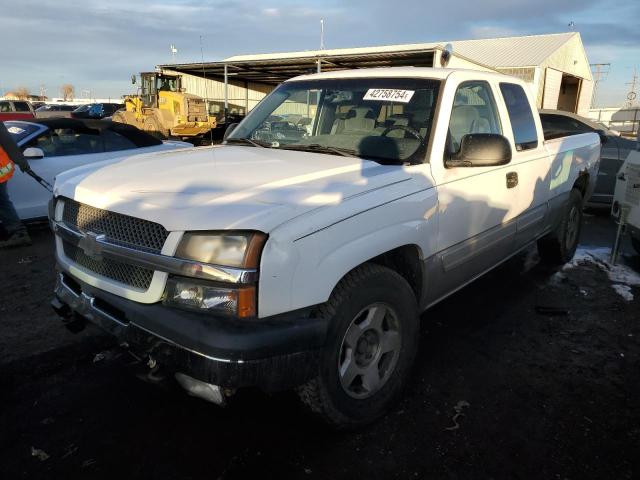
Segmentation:
[(241, 321), (145, 305), (59, 273), (52, 306), (86, 319), (161, 367), (226, 388), (285, 390), (316, 375), (326, 321), (308, 311)]

